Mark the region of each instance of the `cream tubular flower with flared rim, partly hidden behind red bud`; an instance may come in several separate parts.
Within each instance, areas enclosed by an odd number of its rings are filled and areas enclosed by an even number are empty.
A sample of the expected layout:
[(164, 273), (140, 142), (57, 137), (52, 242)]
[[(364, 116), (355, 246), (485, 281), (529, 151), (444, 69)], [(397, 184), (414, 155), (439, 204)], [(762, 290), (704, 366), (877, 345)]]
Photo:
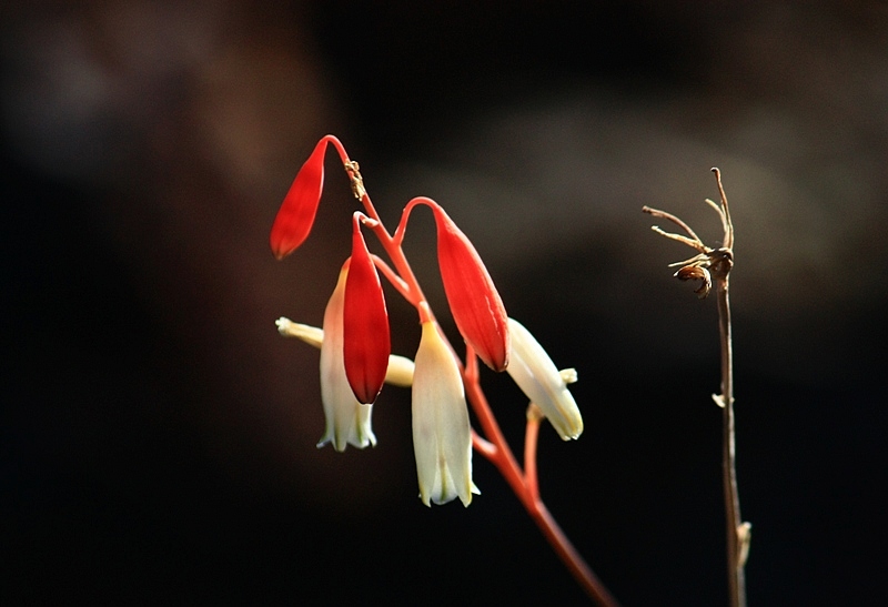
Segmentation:
[(349, 270), (344, 266), (326, 304), (321, 343), (321, 402), (324, 405), (326, 429), (317, 446), (333, 443), (333, 448), (340, 452), (345, 451), (349, 444), (357, 448), (376, 445), (376, 436), (370, 424), (373, 405), (359, 403), (345, 377), (343, 310), (347, 275)]

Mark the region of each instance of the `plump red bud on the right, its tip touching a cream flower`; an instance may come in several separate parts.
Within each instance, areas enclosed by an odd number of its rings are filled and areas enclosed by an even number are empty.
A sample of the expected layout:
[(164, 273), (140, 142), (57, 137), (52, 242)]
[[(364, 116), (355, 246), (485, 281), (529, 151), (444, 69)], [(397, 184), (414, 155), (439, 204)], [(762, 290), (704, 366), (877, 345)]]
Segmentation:
[(466, 235), (441, 206), (432, 206), (437, 227), (441, 281), (463, 338), (494, 371), (508, 365), (508, 327), (503, 300)]

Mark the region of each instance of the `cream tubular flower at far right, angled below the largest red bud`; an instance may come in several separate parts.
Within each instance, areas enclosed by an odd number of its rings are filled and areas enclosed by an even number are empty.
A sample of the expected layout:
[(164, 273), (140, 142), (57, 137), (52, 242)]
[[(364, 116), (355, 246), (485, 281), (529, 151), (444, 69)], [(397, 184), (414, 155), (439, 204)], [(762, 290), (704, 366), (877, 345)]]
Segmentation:
[(517, 321), (508, 320), (508, 332), (512, 351), (506, 371), (563, 441), (578, 438), (583, 434), (583, 416), (565, 382), (575, 381), (575, 374), (559, 373), (539, 342)]

